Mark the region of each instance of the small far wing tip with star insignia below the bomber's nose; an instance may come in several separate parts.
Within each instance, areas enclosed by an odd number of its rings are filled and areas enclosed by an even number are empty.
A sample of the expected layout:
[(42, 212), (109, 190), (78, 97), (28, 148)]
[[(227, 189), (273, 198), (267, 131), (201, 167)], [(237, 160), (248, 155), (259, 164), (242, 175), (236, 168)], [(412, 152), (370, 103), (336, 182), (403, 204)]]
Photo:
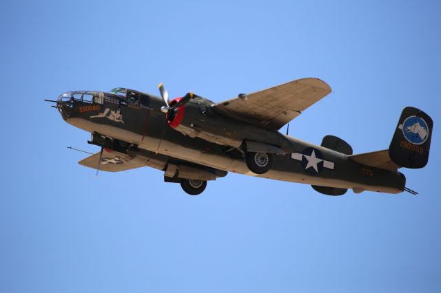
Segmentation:
[[(90, 155), (78, 162), (79, 164), (96, 169), (98, 167), (99, 153)], [(101, 157), (101, 162), (99, 163), (99, 169), (108, 172), (119, 172), (129, 169), (135, 169), (143, 167), (144, 165), (139, 164), (133, 160), (130, 155), (124, 155), (123, 153), (103, 151), (103, 156)]]

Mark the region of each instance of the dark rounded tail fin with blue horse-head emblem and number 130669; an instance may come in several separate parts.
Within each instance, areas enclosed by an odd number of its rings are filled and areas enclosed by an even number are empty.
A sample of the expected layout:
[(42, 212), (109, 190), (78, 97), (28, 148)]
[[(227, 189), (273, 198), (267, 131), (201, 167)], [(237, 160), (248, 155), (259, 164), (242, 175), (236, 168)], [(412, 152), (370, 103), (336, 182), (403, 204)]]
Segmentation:
[(429, 160), (433, 121), (420, 109), (402, 110), (398, 126), (389, 146), (389, 156), (398, 166), (418, 169)]

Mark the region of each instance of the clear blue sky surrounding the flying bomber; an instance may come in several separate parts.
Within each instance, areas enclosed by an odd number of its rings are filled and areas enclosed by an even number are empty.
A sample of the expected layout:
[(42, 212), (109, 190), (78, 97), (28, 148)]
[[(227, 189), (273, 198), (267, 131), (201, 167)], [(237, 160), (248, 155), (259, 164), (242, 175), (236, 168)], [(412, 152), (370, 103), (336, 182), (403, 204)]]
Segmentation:
[[(441, 292), (440, 1), (2, 1), (0, 292)], [(435, 124), (420, 193), (229, 174), (191, 197), (163, 173), (76, 162), (90, 135), (43, 99), (130, 87), (216, 102), (304, 77), (333, 92), (290, 124), (387, 149)], [(283, 128), (281, 131), (285, 131)]]

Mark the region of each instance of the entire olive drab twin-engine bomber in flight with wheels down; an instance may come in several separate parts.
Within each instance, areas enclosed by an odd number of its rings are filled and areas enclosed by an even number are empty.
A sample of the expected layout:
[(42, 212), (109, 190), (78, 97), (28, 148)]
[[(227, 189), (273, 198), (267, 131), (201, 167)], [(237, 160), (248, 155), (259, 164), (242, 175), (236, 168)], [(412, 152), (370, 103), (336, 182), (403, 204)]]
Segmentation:
[[(408, 191), (398, 171), (422, 168), (429, 159), (433, 122), (414, 107), (402, 111), (389, 149), (353, 155), (351, 146), (326, 135), (320, 146), (278, 130), (331, 92), (318, 78), (238, 94), (212, 102), (189, 92), (169, 100), (126, 88), (69, 91), (56, 107), (74, 127), (91, 133), (89, 144), (101, 147), (79, 164), (117, 172), (150, 166), (164, 181), (181, 184), (189, 195), (228, 172), (310, 184), (325, 195)], [(289, 126), (289, 125), (288, 125)], [(288, 133), (287, 133), (288, 134)]]

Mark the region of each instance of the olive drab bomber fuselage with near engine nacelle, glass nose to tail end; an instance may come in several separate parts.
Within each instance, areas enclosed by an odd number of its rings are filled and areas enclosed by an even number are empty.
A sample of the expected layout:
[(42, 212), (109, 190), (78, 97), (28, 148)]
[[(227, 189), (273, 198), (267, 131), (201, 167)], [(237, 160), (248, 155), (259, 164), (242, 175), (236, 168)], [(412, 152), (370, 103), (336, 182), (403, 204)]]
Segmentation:
[[(98, 91), (89, 94), (92, 98), (88, 100), (72, 93), (59, 98), (57, 107), (66, 122), (135, 145), (167, 162), (178, 160), (220, 171), (356, 192), (404, 190), (405, 178), (398, 171), (359, 164), (344, 153), (225, 116), (205, 98), (189, 100), (176, 111), (179, 123), (172, 124), (161, 112), (164, 103), (158, 96), (132, 90), (124, 97)], [(256, 174), (249, 170), (244, 161), (247, 143), (249, 147), (273, 148), (269, 171)]]

